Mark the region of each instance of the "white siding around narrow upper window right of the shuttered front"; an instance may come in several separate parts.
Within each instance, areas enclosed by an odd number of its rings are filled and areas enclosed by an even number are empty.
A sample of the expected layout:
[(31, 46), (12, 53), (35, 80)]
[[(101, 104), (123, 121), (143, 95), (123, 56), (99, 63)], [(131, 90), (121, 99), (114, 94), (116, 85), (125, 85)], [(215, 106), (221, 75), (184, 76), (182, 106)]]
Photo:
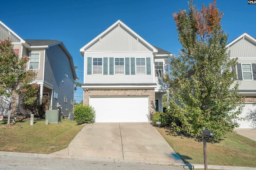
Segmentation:
[[(154, 59), (154, 62), (163, 62), (164, 64), (164, 74), (168, 72), (168, 66), (167, 66), (167, 58), (166, 57), (157, 57)], [(153, 70), (154, 74), (154, 81), (156, 83), (156, 92), (165, 92), (168, 89), (168, 84), (164, 83), (161, 79), (161, 77), (155, 76), (155, 68)]]

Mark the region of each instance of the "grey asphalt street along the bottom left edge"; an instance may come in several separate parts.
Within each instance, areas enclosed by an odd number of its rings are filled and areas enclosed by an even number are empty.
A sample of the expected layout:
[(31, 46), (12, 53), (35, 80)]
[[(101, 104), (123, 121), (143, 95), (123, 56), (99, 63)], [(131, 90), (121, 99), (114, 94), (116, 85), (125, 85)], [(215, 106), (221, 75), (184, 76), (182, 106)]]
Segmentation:
[(182, 170), (183, 167), (156, 165), (132, 160), (55, 156), (0, 152), (0, 170)]

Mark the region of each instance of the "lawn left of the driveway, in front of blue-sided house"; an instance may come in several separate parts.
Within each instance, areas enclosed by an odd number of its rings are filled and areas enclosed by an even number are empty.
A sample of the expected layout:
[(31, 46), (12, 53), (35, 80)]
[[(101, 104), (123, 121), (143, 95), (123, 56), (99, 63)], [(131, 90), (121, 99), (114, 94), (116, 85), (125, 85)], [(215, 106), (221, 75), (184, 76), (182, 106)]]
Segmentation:
[(45, 120), (16, 120), (7, 126), (0, 121), (0, 151), (49, 154), (65, 149), (84, 125), (62, 119), (62, 123), (45, 124)]

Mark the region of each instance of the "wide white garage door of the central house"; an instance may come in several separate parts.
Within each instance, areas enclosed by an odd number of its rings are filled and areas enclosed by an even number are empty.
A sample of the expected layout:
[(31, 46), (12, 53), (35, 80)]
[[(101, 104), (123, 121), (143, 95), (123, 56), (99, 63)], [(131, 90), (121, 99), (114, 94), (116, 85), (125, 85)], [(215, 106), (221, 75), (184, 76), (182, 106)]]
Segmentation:
[(90, 97), (96, 122), (148, 122), (148, 96)]

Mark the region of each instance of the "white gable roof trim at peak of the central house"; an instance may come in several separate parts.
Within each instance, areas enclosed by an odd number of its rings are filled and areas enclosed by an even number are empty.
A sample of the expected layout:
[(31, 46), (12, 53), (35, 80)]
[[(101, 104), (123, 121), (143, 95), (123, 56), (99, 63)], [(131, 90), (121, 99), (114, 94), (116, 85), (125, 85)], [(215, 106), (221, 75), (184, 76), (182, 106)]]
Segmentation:
[(150, 43), (148, 43), (147, 41), (145, 41), (142, 37), (140, 37), (137, 33), (135, 33), (132, 29), (130, 29), (127, 25), (125, 25), (122, 21), (118, 20), (116, 21), (113, 25), (111, 25), (110, 27), (108, 27), (108, 29), (106, 29), (105, 31), (103, 31), (100, 35), (98, 35), (97, 37), (95, 37), (92, 41), (90, 41), (89, 43), (87, 43), (84, 47), (82, 47), (80, 49), (80, 53), (82, 54), (82, 56), (84, 56), (84, 51), (86, 51), (90, 46), (92, 46), (93, 44), (95, 44), (96, 42), (100, 41), (100, 39), (102, 37), (104, 37), (105, 35), (107, 35), (108, 33), (110, 33), (112, 31), (112, 29), (114, 29), (117, 26), (122, 26), (124, 29), (126, 29), (126, 31), (128, 33), (130, 33), (132, 36), (136, 37), (138, 41), (141, 41), (148, 49), (150, 49), (153, 54), (156, 54), (158, 51), (155, 47), (153, 47), (152, 45), (150, 45)]

